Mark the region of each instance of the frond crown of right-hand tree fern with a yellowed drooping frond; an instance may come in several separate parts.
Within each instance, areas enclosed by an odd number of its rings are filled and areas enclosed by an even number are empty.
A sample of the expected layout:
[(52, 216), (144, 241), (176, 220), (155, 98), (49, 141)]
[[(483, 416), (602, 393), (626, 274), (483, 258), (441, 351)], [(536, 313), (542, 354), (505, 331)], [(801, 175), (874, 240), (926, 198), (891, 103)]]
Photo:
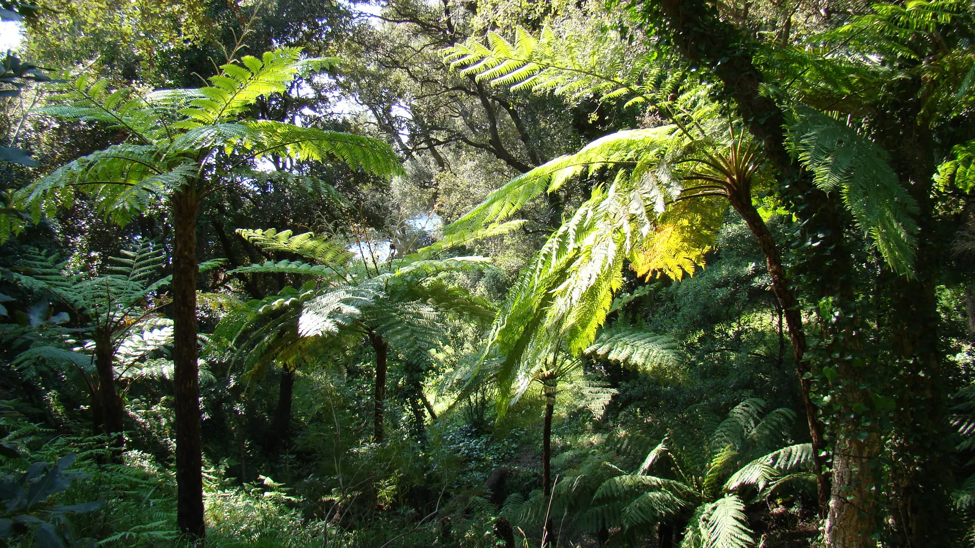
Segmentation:
[[(519, 30), (515, 44), (492, 34), (487, 44), (468, 41), (448, 48), (445, 59), (467, 74), (516, 89), (555, 90), (564, 96), (585, 90), (610, 98), (660, 92), (653, 78), (640, 80), (653, 61), (634, 67), (634, 73), (615, 70), (614, 64), (600, 71), (585, 63), (601, 54), (580, 57), (572, 47), (560, 47), (579, 40), (550, 28), (539, 39)], [(609, 86), (612, 82), (616, 88)], [(637, 82), (643, 82), (640, 90)], [(565, 337), (570, 352), (588, 347), (604, 321), (625, 260), (641, 274), (659, 271), (681, 277), (693, 272), (723, 219), (723, 208), (709, 197), (727, 196), (750, 226), (762, 223), (752, 205), (752, 186), (762, 177), (759, 149), (743, 136), (732, 133), (730, 143), (722, 137), (717, 105), (702, 96), (699, 86), (684, 82), (668, 89), (680, 92), (674, 94), (676, 100), (690, 106), (686, 112), (692, 123), (682, 123), (670, 112), (678, 126), (597, 139), (575, 154), (516, 177), (445, 229), (453, 237), (471, 234), (506, 220), (543, 192), (558, 190), (569, 177), (601, 170), (616, 175), (552, 235), (529, 266), (530, 274), (509, 296), (488, 344), (506, 355), (501, 376), (518, 361), (537, 361), (551, 349), (539, 348), (530, 333), (543, 333), (539, 338), (548, 341)], [(878, 148), (845, 126), (827, 128), (820, 119), (831, 120), (827, 117), (802, 113), (792, 135), (797, 153), (816, 174), (815, 182), (827, 191), (839, 191), (884, 258), (898, 271), (909, 271), (915, 208)], [(754, 228), (760, 240), (767, 233), (762, 228)], [(768, 253), (774, 255), (769, 260), (780, 262), (776, 252)], [(777, 293), (789, 292), (785, 281), (776, 281), (781, 286)], [(517, 333), (506, 334), (515, 326)], [(522, 326), (531, 329), (523, 331)]]

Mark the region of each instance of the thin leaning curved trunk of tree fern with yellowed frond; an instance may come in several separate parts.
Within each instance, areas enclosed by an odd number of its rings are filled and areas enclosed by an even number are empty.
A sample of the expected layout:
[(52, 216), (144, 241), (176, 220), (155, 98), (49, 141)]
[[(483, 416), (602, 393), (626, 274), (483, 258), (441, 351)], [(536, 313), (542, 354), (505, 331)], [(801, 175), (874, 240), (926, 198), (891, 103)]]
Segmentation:
[(789, 330), (789, 337), (792, 340), (793, 356), (796, 359), (796, 370), (799, 374), (800, 392), (802, 397), (802, 408), (805, 411), (806, 423), (809, 427), (809, 437), (812, 440), (813, 459), (816, 464), (816, 488), (819, 495), (820, 507), (824, 507), (826, 501), (830, 500), (830, 476), (826, 463), (826, 439), (823, 435), (823, 423), (818, 418), (818, 410), (810, 397), (812, 374), (809, 371), (809, 362), (805, 356), (806, 342), (805, 333), (802, 333), (802, 316), (799, 310), (799, 301), (793, 292), (786, 275), (786, 269), (782, 265), (782, 259), (775, 240), (768, 231), (768, 226), (761, 219), (758, 210), (752, 204), (752, 198), (748, 196), (729, 195), (731, 207), (741, 215), (748, 224), (749, 229), (759, 241), (761, 253), (765, 255), (765, 264), (768, 268), (768, 275), (772, 279), (772, 291), (778, 298), (782, 315), (785, 316), (786, 327)]

